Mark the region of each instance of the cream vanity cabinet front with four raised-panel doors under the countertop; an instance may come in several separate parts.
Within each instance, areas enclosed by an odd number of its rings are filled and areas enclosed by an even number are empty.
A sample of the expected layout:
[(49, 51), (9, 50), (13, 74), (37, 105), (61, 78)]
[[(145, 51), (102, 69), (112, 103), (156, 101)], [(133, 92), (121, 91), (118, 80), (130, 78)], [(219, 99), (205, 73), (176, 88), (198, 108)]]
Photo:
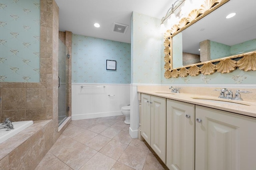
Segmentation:
[(256, 117), (143, 93), (140, 99), (140, 134), (170, 170), (256, 170)]

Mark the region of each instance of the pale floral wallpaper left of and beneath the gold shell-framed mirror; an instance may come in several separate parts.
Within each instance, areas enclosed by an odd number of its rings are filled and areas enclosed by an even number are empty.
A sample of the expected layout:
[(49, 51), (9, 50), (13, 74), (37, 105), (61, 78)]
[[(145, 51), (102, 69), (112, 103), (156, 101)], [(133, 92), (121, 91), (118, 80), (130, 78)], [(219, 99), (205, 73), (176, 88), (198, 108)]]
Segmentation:
[(133, 84), (256, 84), (256, 71), (239, 69), (226, 74), (164, 78), (164, 35), (159, 31), (160, 23), (160, 19), (133, 12)]

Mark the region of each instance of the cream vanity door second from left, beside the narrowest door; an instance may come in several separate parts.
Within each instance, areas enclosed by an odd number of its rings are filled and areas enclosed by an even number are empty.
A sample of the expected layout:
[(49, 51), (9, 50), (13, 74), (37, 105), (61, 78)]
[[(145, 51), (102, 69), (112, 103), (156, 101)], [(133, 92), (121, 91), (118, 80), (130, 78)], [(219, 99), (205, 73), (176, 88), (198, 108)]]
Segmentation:
[(151, 148), (165, 163), (166, 98), (151, 96)]

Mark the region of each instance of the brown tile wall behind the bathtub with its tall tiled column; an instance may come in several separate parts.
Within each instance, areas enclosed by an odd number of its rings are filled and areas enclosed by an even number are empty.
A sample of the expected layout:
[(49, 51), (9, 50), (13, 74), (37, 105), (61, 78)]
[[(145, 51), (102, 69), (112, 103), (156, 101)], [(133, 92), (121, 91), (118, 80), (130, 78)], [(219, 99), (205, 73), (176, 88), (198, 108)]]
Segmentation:
[(0, 82), (0, 121), (53, 119), (53, 143), (59, 137), (58, 15), (54, 0), (40, 0), (40, 82)]

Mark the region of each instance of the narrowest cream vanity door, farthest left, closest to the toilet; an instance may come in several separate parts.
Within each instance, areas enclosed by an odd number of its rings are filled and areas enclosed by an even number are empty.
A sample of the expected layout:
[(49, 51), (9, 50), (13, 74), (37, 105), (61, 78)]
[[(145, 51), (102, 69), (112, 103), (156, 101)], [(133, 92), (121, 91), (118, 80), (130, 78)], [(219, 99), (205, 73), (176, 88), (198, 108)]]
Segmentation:
[(145, 141), (150, 145), (150, 124), (151, 124), (151, 112), (150, 112), (150, 95), (141, 94), (141, 135)]

